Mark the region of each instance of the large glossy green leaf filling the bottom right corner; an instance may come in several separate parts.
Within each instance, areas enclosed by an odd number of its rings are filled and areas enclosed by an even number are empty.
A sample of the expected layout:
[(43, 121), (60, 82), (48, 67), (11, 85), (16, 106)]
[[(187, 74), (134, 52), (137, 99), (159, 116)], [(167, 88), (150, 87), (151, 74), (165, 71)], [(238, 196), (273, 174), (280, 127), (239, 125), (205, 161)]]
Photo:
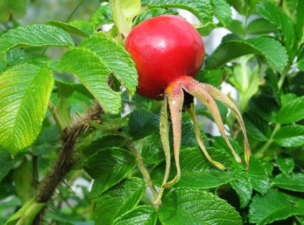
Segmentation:
[(267, 194), (256, 194), (249, 205), (249, 222), (257, 225), (272, 223), (293, 215), (304, 214), (304, 200), (270, 189)]

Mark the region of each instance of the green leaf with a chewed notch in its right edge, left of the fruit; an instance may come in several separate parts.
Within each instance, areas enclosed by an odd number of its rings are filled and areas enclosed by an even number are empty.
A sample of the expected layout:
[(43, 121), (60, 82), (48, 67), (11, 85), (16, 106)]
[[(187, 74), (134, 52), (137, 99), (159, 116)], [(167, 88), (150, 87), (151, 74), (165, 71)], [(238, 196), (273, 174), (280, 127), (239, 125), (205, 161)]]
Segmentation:
[(73, 73), (98, 100), (105, 113), (119, 113), (121, 93), (108, 86), (107, 78), (112, 71), (95, 52), (73, 48), (62, 56), (60, 62), (50, 61), (48, 66), (57, 72)]

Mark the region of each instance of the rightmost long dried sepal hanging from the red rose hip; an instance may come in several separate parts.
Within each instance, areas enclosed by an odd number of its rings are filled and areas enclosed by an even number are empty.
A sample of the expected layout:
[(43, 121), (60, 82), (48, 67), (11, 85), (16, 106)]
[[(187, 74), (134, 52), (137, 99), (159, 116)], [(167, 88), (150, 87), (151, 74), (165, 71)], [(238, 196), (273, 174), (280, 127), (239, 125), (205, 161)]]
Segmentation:
[(246, 134), (246, 129), (245, 129), (245, 125), (244, 125), (244, 121), (243, 118), (241, 116), (241, 113), (239, 112), (239, 110), (237, 109), (237, 106), (225, 95), (223, 94), (220, 90), (218, 90), (217, 88), (209, 85), (209, 84), (201, 84), (202, 88), (204, 88), (206, 91), (208, 91), (208, 93), (215, 99), (221, 101), (224, 105), (226, 105), (232, 112), (233, 114), (236, 116), (238, 123), (241, 126), (241, 129), (243, 131), (244, 134), (244, 148), (245, 148), (245, 162), (246, 162), (246, 169), (244, 169), (244, 171), (247, 171), (249, 169), (249, 158), (250, 158), (250, 154), (251, 154), (251, 150), (250, 150), (250, 146), (248, 143), (248, 139), (247, 139), (247, 134)]

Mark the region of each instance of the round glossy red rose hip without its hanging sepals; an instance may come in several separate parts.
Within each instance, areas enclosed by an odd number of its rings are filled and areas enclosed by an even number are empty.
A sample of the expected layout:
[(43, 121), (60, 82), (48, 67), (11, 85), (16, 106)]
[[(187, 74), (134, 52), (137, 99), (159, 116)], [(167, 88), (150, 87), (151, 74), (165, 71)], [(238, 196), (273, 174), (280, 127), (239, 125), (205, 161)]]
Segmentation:
[(162, 100), (165, 88), (177, 78), (195, 78), (205, 57), (200, 34), (176, 15), (157, 16), (140, 23), (128, 35), (125, 48), (136, 63), (136, 92), (154, 100)]

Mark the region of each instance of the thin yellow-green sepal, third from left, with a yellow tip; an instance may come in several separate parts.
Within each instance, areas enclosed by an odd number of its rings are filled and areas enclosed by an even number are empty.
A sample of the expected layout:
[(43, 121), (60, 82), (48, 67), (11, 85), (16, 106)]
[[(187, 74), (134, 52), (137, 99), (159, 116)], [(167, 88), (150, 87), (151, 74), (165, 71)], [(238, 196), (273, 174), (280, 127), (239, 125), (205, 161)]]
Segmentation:
[(226, 170), (225, 166), (222, 165), (219, 162), (214, 161), (211, 156), (209, 155), (209, 153), (207, 152), (206, 148), (205, 148), (205, 144), (200, 132), (200, 129), (198, 127), (198, 123), (197, 123), (197, 119), (195, 116), (195, 111), (194, 111), (194, 104), (192, 103), (190, 105), (190, 108), (186, 108), (186, 112), (190, 115), (191, 120), (193, 122), (193, 127), (194, 127), (194, 133), (198, 142), (198, 145), (200, 146), (201, 150), (204, 152), (204, 155), (206, 156), (206, 158), (209, 160), (209, 162), (211, 162), (214, 166), (216, 166), (217, 168), (221, 169), (221, 170)]

